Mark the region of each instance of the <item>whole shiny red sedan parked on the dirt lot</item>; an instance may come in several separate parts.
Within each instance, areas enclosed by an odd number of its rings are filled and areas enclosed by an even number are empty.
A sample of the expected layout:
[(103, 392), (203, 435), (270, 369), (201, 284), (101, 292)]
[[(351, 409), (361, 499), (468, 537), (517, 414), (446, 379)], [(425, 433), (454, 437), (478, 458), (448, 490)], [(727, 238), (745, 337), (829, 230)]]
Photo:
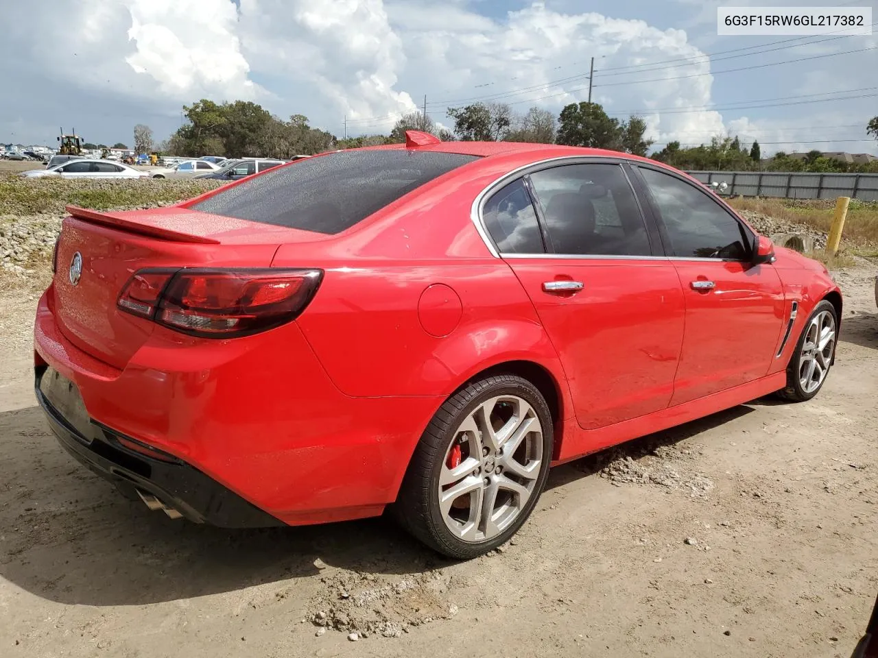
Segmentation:
[(336, 152), (173, 207), (69, 208), (36, 392), (79, 461), (219, 526), (392, 505), (472, 557), (551, 465), (817, 394), (842, 298), (699, 182), (587, 148)]

